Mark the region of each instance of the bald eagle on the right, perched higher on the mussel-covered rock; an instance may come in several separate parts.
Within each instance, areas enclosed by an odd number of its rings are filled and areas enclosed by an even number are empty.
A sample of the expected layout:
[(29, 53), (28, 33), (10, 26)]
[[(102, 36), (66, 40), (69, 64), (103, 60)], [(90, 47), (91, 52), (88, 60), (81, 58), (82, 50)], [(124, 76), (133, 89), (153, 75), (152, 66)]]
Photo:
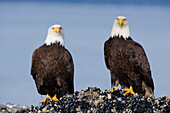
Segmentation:
[(115, 19), (110, 38), (104, 44), (104, 56), (115, 90), (120, 84), (130, 87), (124, 89), (128, 93), (136, 92), (154, 98), (154, 84), (147, 56), (143, 47), (130, 37), (126, 17), (118, 16)]

